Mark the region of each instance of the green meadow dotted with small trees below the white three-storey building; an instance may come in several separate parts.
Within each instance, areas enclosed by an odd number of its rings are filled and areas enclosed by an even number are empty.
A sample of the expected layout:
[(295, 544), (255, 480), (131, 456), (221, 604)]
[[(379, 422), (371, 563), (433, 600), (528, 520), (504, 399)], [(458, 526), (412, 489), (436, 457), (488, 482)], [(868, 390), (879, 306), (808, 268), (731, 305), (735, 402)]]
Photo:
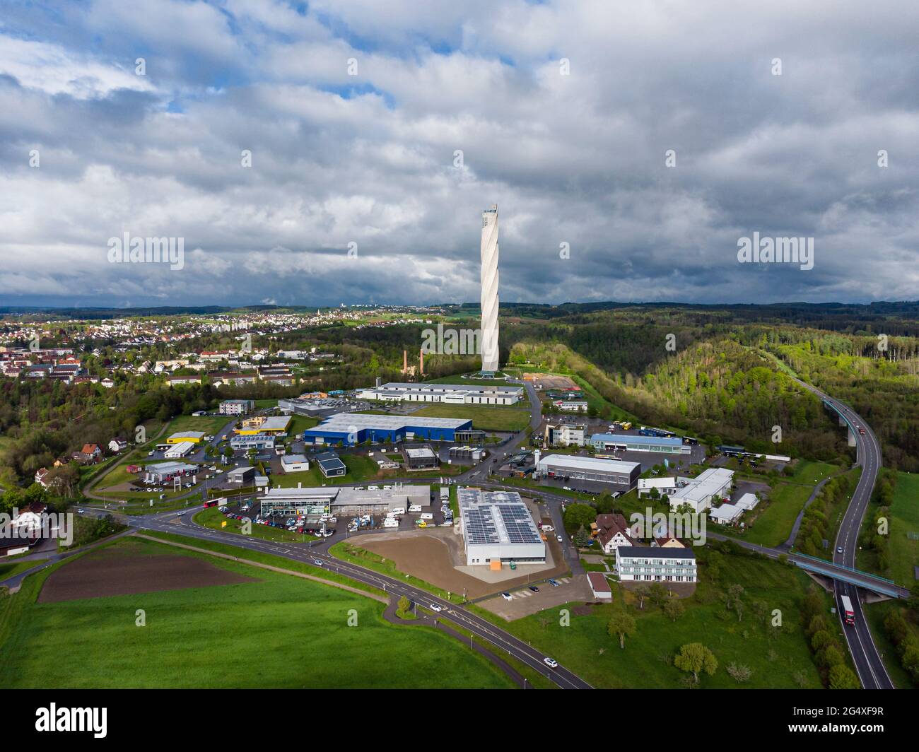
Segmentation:
[[(711, 552), (696, 551), (704, 571)], [(626, 598), (613, 584), (613, 598), (628, 602), (626, 608), (636, 621), (636, 631), (626, 638), (624, 650), (619, 649), (618, 638), (607, 634), (611, 605), (595, 607), (584, 616), (572, 611), (567, 627), (560, 624), (560, 609), (550, 609), (512, 621), (506, 628), (597, 688), (678, 688), (686, 675), (670, 659), (687, 643), (706, 645), (718, 659), (714, 676), (700, 677), (703, 688), (793, 688), (800, 686), (797, 678), (807, 688), (820, 688), (820, 675), (811, 660), (797, 605), (809, 582), (807, 576), (776, 562), (725, 555), (720, 579), (720, 583), (712, 584), (703, 578), (696, 594), (684, 601), (685, 614), (675, 622), (647, 601), (644, 610), (638, 610), (633, 596)], [(733, 583), (744, 588), (743, 621), (728, 612), (720, 599)], [(766, 617), (772, 610), (781, 610), (785, 627), (778, 634), (770, 636), (764, 620), (754, 615), (752, 605), (756, 601), (765, 604)], [(571, 610), (574, 606), (560, 608)], [(827, 613), (829, 607), (827, 599)], [(753, 669), (749, 682), (738, 684), (728, 675), (726, 667), (731, 663)]]

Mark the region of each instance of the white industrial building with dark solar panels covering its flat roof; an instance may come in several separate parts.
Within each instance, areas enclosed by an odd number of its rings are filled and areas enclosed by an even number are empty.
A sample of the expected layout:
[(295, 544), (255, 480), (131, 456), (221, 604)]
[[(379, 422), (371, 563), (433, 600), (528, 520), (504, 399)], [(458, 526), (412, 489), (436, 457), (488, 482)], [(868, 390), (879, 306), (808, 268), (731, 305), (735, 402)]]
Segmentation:
[(466, 564), (543, 564), (546, 543), (516, 491), (458, 488)]

